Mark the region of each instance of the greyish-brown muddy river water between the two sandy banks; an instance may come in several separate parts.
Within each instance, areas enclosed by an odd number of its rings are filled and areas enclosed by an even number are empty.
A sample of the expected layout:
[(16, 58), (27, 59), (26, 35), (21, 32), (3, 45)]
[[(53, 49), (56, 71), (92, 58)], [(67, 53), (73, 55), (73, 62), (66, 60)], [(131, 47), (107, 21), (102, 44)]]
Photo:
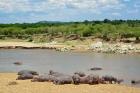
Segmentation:
[[(14, 62), (22, 62), (16, 66)], [(101, 67), (100, 71), (89, 71), (92, 67)], [(140, 55), (71, 53), (41, 49), (0, 50), (0, 72), (18, 72), (36, 70), (47, 73), (49, 70), (73, 74), (83, 71), (87, 74), (112, 75), (124, 79), (126, 85), (131, 80), (140, 80)], [(137, 85), (140, 87), (140, 85)]]

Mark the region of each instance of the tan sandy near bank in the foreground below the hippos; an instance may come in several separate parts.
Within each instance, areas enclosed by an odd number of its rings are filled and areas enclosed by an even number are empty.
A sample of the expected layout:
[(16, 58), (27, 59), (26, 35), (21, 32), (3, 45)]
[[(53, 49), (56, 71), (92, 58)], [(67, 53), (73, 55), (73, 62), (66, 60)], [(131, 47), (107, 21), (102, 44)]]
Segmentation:
[[(30, 80), (16, 81), (15, 73), (0, 73), (0, 93), (140, 93), (140, 88), (123, 85), (54, 85)], [(16, 81), (17, 85), (8, 85)]]

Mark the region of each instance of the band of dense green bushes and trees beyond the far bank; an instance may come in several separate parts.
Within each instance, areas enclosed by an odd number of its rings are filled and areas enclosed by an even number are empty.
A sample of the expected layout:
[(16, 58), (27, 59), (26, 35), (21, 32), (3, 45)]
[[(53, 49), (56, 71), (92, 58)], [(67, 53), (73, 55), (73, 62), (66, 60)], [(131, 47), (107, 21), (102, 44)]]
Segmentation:
[[(81, 39), (84, 37), (102, 38), (104, 40), (140, 37), (140, 20), (108, 20), (84, 22), (47, 22), (0, 24), (0, 39), (29, 39), (40, 36), (45, 40), (53, 38)], [(44, 41), (43, 40), (43, 41)]]

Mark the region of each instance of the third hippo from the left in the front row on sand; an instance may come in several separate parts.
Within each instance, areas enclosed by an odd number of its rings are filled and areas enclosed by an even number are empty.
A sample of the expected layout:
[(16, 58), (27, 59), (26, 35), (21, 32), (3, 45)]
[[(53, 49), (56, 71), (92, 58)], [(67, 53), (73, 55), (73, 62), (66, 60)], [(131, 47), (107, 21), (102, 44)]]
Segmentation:
[(55, 80), (53, 81), (53, 84), (56, 84), (56, 85), (72, 84), (72, 83), (73, 83), (72, 76), (69, 76), (69, 75), (62, 75), (62, 76), (56, 77)]

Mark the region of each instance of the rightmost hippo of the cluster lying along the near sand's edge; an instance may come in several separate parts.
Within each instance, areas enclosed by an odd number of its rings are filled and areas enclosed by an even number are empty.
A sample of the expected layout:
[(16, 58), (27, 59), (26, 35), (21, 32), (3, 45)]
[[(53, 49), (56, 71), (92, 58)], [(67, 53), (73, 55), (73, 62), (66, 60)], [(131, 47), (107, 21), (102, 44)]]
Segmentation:
[(113, 84), (113, 83), (118, 83), (120, 84), (123, 80), (122, 79), (117, 79), (113, 76), (103, 76), (102, 79), (105, 81), (105, 82), (109, 82), (110, 84)]

